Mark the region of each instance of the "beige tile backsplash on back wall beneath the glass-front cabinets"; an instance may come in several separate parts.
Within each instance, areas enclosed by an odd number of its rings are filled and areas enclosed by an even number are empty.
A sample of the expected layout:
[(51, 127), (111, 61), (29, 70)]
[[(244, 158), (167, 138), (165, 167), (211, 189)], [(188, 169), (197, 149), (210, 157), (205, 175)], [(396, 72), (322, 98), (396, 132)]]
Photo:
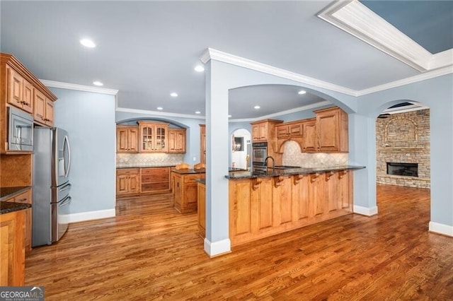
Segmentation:
[(183, 163), (183, 153), (117, 153), (116, 167), (178, 165)]

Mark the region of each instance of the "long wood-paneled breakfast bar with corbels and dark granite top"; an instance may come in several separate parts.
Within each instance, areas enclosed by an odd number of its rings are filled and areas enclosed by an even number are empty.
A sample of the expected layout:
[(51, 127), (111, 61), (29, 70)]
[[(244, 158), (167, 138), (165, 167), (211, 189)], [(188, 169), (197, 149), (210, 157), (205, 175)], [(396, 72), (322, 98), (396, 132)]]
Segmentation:
[(352, 213), (352, 170), (362, 168), (229, 173), (231, 246)]

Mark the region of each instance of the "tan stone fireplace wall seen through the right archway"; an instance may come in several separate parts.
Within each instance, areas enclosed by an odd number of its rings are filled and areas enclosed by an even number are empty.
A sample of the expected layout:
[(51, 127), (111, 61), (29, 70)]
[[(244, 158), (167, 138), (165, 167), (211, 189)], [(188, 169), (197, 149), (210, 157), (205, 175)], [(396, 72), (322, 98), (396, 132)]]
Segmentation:
[[(378, 183), (430, 188), (430, 110), (378, 118), (376, 160)], [(390, 162), (418, 163), (418, 177), (387, 175)]]

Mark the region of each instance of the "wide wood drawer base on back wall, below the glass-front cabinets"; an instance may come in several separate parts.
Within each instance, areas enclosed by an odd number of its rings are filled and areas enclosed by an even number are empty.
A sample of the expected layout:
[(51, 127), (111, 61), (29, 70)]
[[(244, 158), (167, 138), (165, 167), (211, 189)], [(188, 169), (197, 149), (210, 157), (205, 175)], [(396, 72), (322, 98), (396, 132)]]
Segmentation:
[(165, 193), (171, 191), (170, 167), (140, 168), (140, 193)]

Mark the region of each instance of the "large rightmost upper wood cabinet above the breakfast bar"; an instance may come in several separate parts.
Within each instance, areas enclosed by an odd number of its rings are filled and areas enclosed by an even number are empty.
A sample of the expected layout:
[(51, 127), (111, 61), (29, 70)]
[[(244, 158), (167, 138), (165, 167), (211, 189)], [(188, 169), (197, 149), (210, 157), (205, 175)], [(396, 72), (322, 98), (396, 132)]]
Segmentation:
[(348, 152), (348, 114), (339, 107), (314, 112), (318, 151)]

